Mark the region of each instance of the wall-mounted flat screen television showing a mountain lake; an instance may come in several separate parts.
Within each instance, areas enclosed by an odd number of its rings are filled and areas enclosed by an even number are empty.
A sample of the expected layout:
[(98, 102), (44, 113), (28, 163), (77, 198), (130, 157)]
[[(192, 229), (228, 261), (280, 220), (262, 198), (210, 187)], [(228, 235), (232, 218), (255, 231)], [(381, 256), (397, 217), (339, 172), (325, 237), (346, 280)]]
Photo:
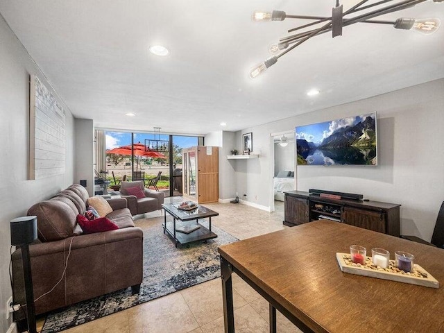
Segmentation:
[(296, 127), (298, 165), (377, 165), (376, 112)]

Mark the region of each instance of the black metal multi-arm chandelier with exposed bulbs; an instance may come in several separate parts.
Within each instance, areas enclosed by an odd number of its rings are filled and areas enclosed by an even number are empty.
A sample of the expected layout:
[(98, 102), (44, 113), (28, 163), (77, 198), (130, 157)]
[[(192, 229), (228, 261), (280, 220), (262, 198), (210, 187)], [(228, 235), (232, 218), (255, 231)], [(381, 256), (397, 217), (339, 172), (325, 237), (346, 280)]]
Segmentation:
[[(373, 3), (369, 0), (361, 0), (355, 6), (352, 6), (352, 8), (344, 12), (343, 6), (339, 4), (339, 0), (336, 0), (336, 6), (332, 10), (331, 17), (287, 15), (286, 12), (281, 10), (273, 10), (273, 12), (255, 11), (253, 12), (252, 18), (253, 21), (256, 22), (284, 21), (284, 19), (306, 19), (311, 21), (307, 24), (290, 29), (288, 33), (301, 31), (302, 29), (313, 27), (317, 24), (323, 23), (323, 25), (318, 28), (309, 28), (305, 31), (283, 37), (277, 44), (272, 44), (269, 51), (271, 53), (280, 53), (275, 56), (271, 56), (261, 64), (253, 67), (253, 69), (251, 69), (249, 72), (250, 78), (255, 78), (259, 74), (263, 73), (268, 67), (271, 67), (278, 62), (280, 57), (289, 53), (289, 51), (293, 50), (296, 48), (296, 46), (299, 46), (303, 42), (306, 42), (311, 37), (321, 35), (329, 31), (332, 31), (333, 38), (341, 36), (342, 28), (344, 26), (350, 26), (351, 24), (355, 23), (390, 24), (397, 29), (413, 30), (425, 35), (434, 33), (441, 24), (439, 19), (414, 19), (411, 17), (401, 17), (395, 21), (380, 21), (374, 19), (375, 17), (379, 17), (381, 15), (414, 7), (425, 1), (431, 0), (379, 0)], [(443, 3), (444, 0), (433, 0), (433, 2)], [(364, 4), (366, 4), (366, 6), (364, 6)]]

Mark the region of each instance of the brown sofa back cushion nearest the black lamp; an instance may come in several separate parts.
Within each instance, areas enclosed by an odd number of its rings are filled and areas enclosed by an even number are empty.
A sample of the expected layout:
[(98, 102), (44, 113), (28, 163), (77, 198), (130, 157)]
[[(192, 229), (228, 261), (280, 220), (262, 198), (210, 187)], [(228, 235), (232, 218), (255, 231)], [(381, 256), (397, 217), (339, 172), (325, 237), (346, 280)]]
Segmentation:
[(36, 203), (28, 210), (28, 215), (37, 216), (37, 231), (41, 241), (58, 241), (73, 235), (76, 214), (62, 201)]

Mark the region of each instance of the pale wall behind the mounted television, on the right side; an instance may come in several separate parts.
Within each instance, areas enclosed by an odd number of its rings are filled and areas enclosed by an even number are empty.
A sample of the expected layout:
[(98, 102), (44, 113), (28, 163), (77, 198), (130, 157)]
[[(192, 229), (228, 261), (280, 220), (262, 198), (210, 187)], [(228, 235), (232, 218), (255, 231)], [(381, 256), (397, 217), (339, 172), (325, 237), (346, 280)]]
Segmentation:
[(374, 111), (379, 165), (300, 166), (295, 173), (297, 188), (351, 192), (399, 203), (401, 233), (431, 239), (444, 200), (444, 79), (242, 130), (237, 135), (253, 132), (253, 150), (262, 154), (236, 169), (239, 191), (248, 193), (251, 203), (268, 207), (270, 133)]

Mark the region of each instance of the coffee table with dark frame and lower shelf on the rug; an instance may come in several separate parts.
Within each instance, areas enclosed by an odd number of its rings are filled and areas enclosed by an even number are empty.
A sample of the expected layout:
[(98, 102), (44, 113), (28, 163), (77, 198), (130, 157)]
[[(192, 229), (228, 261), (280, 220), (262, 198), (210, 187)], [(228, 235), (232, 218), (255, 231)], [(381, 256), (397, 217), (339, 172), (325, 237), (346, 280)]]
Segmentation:
[[(211, 218), (218, 216), (218, 212), (198, 205), (194, 210), (179, 210), (179, 203), (164, 203), (162, 208), (164, 215), (164, 234), (169, 234), (176, 244), (181, 246), (194, 241), (207, 241), (216, 238), (217, 234), (211, 231)], [(173, 221), (167, 222), (167, 212), (173, 216)], [(210, 220), (208, 228), (199, 223), (199, 219)], [(195, 221), (195, 222), (194, 222)]]

